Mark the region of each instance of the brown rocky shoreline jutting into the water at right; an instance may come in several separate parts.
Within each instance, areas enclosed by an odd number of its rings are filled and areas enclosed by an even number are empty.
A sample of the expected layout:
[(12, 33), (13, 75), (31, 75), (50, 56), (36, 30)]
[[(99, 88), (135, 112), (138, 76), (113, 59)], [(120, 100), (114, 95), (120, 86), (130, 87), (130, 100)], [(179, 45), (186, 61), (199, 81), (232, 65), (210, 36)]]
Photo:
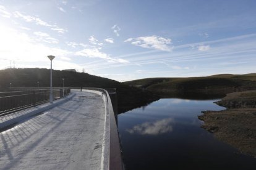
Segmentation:
[(214, 136), (256, 158), (256, 91), (234, 92), (216, 104), (221, 111), (202, 111), (202, 127)]

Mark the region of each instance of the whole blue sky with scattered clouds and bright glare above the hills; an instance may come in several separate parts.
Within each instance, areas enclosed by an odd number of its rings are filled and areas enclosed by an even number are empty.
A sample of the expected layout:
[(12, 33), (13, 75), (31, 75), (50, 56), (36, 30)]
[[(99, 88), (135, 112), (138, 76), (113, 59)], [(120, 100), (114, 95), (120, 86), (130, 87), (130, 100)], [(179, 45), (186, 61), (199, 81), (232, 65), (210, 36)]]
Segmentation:
[(256, 1), (0, 0), (0, 69), (128, 81), (256, 72)]

